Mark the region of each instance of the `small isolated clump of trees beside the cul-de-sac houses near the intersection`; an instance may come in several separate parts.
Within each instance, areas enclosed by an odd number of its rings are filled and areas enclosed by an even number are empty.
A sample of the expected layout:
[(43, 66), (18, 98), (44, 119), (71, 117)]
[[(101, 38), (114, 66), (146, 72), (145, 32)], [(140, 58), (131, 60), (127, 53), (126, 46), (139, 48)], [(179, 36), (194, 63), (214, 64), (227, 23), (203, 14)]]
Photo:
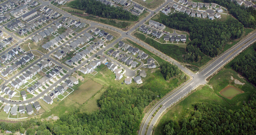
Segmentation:
[(174, 76), (177, 76), (180, 74), (180, 69), (171, 64), (171, 63), (162, 63), (160, 65), (160, 68), (161, 68), (161, 73), (163, 74), (163, 77), (165, 78), (165, 80), (169, 80), (170, 78), (174, 77)]

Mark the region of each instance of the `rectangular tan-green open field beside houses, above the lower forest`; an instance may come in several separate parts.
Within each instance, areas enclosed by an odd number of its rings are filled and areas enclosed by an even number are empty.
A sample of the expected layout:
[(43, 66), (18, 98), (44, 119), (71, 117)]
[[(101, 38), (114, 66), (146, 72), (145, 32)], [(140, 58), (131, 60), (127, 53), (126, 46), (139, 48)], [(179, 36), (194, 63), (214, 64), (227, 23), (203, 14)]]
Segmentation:
[(78, 88), (74, 89), (74, 91), (69, 94), (69, 98), (72, 101), (78, 102), (79, 104), (83, 104), (101, 88), (102, 85), (96, 83), (93, 80), (87, 80), (84, 83), (80, 82), (78, 84)]

